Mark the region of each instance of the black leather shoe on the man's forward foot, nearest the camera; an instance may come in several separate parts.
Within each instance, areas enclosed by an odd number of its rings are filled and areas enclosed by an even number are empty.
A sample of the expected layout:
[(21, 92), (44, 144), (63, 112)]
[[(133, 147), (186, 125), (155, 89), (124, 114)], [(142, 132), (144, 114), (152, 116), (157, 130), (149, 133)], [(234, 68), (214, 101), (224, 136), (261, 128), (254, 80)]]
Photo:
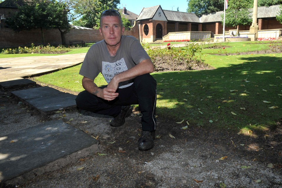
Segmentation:
[(141, 136), (138, 140), (138, 149), (140, 151), (150, 150), (155, 145), (156, 131), (142, 131)]

